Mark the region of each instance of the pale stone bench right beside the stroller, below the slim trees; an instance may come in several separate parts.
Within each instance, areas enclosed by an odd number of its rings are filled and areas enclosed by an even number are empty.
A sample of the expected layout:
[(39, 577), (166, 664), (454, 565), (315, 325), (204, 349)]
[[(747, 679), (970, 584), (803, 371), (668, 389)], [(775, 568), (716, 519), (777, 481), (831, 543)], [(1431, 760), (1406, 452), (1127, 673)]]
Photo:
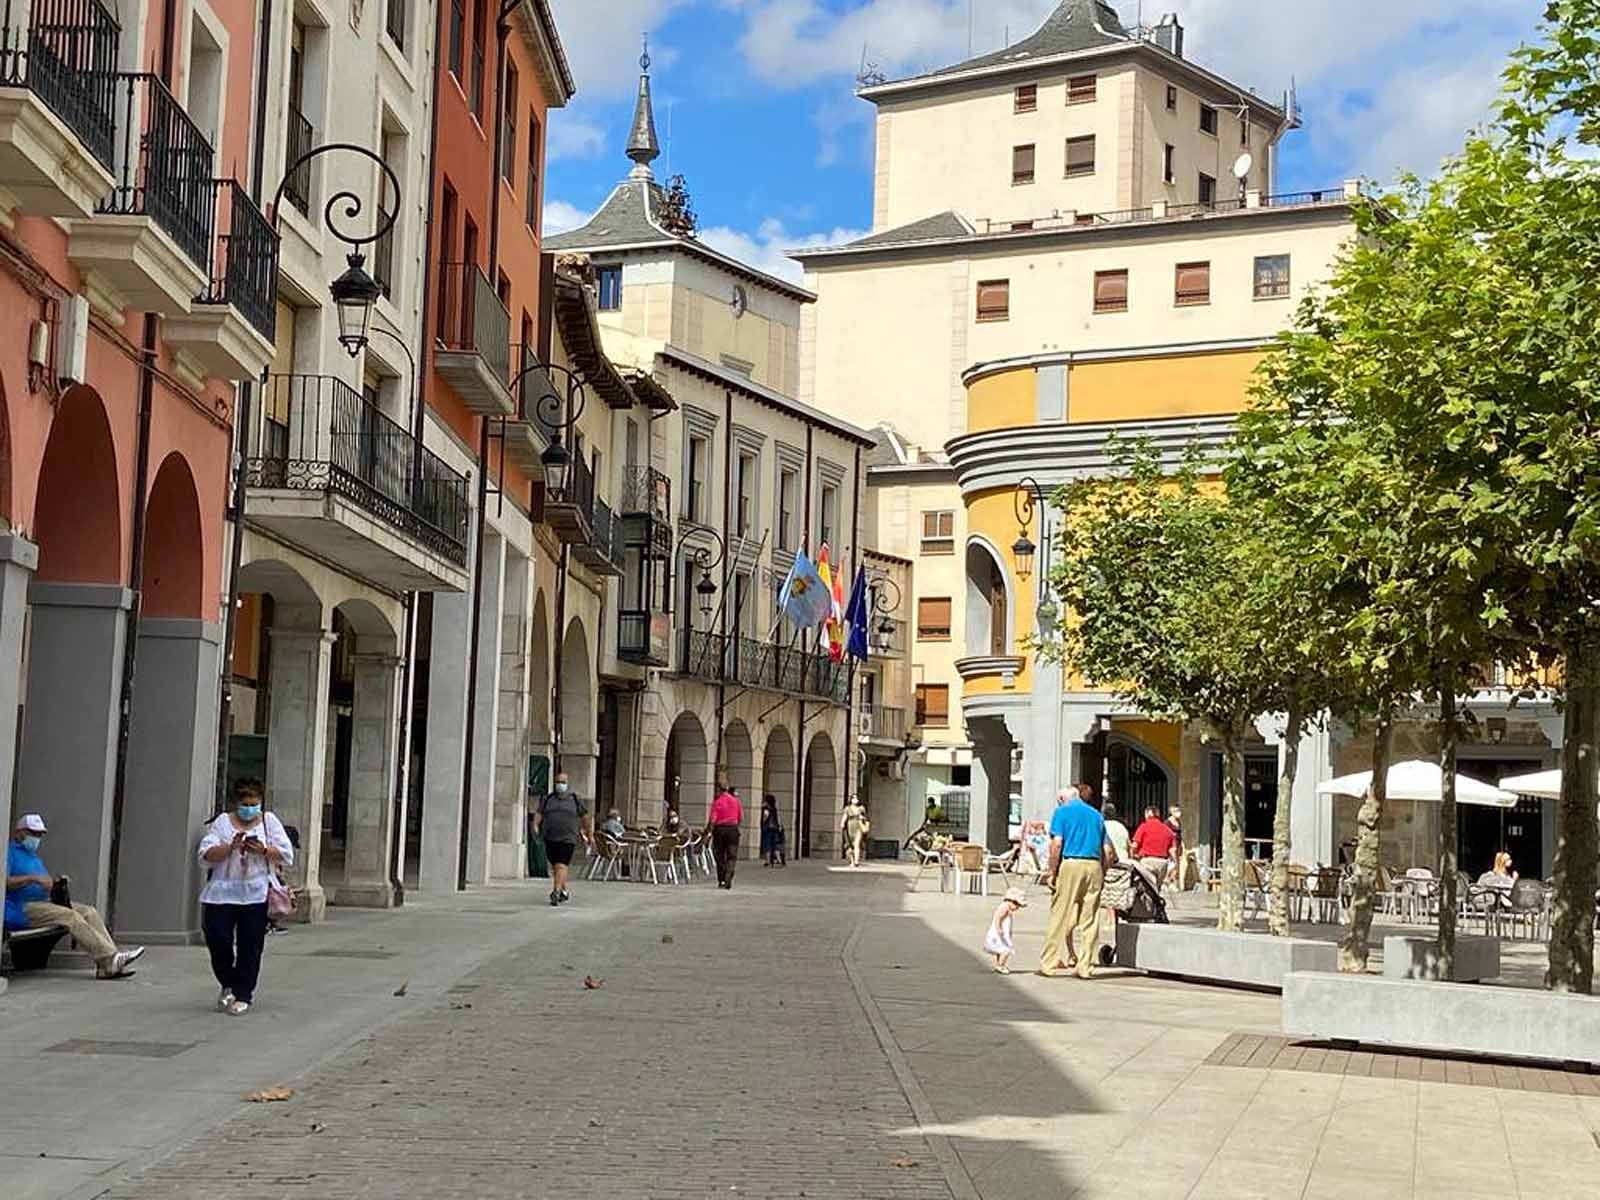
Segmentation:
[(1338, 970), (1339, 947), (1309, 938), (1117, 922), (1117, 965), (1277, 992), (1290, 971)]

